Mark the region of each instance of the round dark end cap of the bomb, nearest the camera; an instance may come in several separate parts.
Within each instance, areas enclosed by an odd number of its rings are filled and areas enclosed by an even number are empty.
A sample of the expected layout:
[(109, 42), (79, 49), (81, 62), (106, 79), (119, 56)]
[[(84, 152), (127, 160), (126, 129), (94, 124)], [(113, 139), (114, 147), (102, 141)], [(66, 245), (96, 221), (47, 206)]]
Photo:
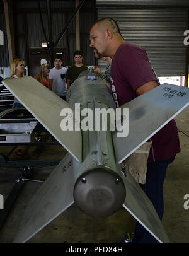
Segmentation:
[(122, 207), (125, 185), (114, 172), (96, 168), (83, 173), (74, 186), (77, 207), (92, 217), (105, 217)]

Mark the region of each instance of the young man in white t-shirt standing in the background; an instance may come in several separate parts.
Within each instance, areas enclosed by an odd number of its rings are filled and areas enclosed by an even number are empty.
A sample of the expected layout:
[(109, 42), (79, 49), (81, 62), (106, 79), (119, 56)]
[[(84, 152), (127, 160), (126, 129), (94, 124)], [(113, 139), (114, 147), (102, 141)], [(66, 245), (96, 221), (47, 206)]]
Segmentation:
[(67, 93), (65, 74), (67, 72), (67, 68), (62, 67), (62, 57), (60, 56), (55, 57), (54, 65), (55, 67), (50, 69), (49, 85), (54, 93), (65, 100)]

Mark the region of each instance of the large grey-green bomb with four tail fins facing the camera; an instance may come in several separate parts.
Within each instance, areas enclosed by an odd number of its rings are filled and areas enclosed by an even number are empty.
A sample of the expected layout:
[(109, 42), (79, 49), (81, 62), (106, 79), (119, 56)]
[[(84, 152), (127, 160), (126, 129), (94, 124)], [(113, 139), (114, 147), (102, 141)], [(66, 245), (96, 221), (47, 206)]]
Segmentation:
[[(77, 128), (86, 118), (81, 115), (84, 109), (115, 109), (110, 87), (93, 71), (80, 74), (67, 91), (66, 102), (31, 77), (6, 79), (3, 84), (68, 151), (28, 204), (13, 243), (29, 240), (74, 202), (94, 217), (108, 216), (123, 206), (160, 243), (170, 242), (151, 201), (121, 163), (187, 107), (188, 88), (162, 84), (121, 106), (122, 111), (129, 109), (129, 135), (119, 137), (117, 129), (61, 129), (65, 108), (71, 110), (69, 118)], [(75, 103), (81, 105), (80, 113)], [(123, 113), (116, 128), (124, 118)]]

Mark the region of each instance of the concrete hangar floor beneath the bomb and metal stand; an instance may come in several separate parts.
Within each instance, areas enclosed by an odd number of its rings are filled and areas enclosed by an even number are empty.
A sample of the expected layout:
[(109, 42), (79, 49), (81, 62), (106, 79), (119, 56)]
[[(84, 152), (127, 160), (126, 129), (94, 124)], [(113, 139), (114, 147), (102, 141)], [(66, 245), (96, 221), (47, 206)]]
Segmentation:
[[(169, 165), (164, 182), (163, 226), (173, 243), (188, 243), (189, 209), (184, 209), (183, 205), (186, 201), (184, 195), (189, 194), (189, 107), (175, 120), (179, 130), (181, 153)], [(8, 146), (0, 146), (1, 153), (6, 154), (9, 149)], [(32, 155), (35, 150), (36, 147), (32, 147), (28, 154)], [(62, 146), (45, 146), (38, 158), (61, 159), (65, 154), (66, 150)], [(36, 169), (33, 177), (45, 180), (53, 169), (54, 167)], [(17, 170), (0, 168), (1, 180), (15, 177), (18, 177)], [(42, 183), (25, 183), (0, 231), (0, 243), (11, 243), (25, 208), (40, 185)], [(4, 201), (13, 186), (13, 183), (0, 185), (0, 194), (4, 196)], [(126, 232), (134, 231), (135, 223), (135, 219), (123, 208), (108, 218), (95, 219), (86, 216), (73, 204), (27, 243), (121, 243)]]

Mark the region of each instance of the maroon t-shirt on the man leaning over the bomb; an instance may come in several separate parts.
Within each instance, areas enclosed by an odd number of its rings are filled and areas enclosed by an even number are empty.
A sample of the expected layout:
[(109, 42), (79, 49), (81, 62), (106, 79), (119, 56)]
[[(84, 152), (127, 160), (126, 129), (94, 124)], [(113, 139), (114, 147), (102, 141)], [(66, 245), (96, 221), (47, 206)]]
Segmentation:
[[(159, 80), (149, 62), (146, 51), (139, 45), (125, 42), (113, 56), (110, 71), (110, 88), (117, 107), (136, 98), (136, 90), (147, 82)], [(180, 152), (178, 129), (171, 120), (151, 137), (152, 146), (148, 162), (168, 160)]]

